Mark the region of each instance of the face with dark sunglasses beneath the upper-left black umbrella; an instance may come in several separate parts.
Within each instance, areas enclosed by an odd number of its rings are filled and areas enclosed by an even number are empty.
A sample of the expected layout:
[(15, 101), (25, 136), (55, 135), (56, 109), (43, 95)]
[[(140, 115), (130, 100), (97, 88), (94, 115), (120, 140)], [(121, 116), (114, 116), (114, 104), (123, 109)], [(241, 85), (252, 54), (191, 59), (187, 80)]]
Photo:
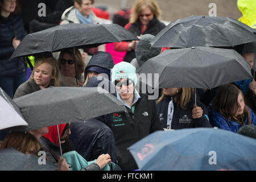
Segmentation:
[(76, 77), (75, 62), (73, 56), (69, 53), (64, 53), (60, 61), (60, 72), (63, 76)]

